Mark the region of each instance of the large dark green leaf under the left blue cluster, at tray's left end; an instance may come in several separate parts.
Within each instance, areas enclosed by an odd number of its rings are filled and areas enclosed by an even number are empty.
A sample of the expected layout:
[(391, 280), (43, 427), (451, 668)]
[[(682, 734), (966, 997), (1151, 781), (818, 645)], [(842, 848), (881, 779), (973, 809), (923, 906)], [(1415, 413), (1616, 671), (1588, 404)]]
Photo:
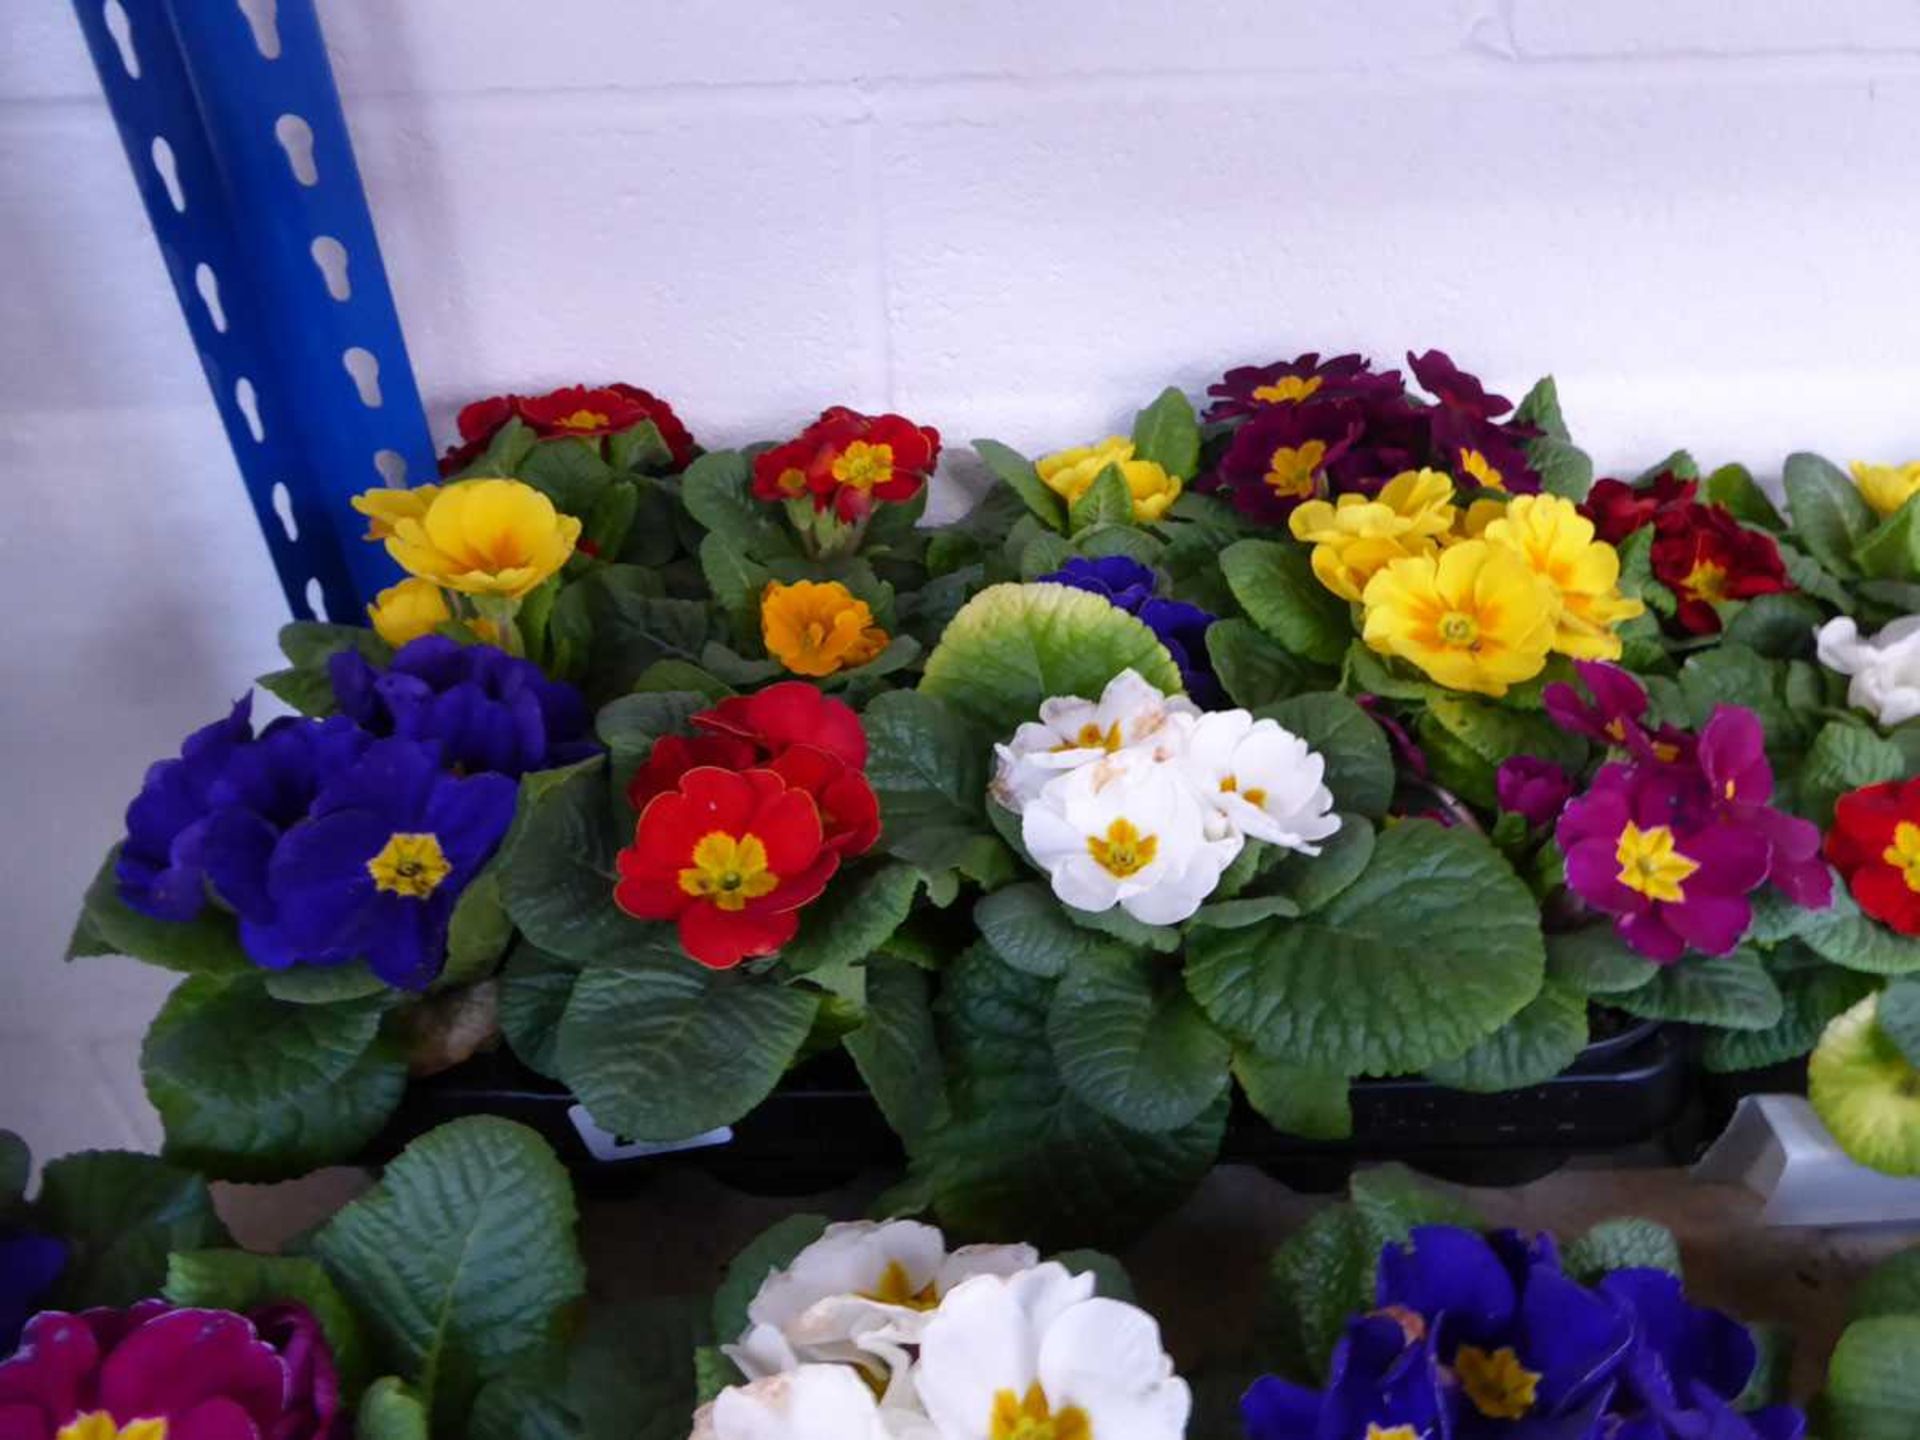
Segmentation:
[(140, 1048), (167, 1158), (238, 1181), (353, 1160), (407, 1089), (405, 1056), (380, 1029), (388, 1004), (300, 1004), (255, 977), (188, 979)]

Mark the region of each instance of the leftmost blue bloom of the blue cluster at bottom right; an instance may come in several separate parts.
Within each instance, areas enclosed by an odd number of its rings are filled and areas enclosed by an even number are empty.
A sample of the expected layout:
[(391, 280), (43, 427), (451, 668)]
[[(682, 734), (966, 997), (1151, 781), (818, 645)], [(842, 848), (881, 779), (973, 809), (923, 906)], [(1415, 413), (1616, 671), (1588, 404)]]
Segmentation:
[(1325, 1390), (1275, 1377), (1240, 1398), (1248, 1440), (1452, 1440), (1434, 1334), (1413, 1315), (1356, 1315)]

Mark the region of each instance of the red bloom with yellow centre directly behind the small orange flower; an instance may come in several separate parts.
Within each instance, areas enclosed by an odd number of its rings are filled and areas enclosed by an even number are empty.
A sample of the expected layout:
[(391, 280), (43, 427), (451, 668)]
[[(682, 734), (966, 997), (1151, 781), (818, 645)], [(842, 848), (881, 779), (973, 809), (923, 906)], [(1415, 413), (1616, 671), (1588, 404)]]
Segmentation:
[(753, 493), (768, 501), (810, 495), (816, 511), (831, 505), (841, 520), (860, 520), (876, 501), (918, 495), (939, 455), (941, 436), (931, 426), (835, 405), (755, 459)]

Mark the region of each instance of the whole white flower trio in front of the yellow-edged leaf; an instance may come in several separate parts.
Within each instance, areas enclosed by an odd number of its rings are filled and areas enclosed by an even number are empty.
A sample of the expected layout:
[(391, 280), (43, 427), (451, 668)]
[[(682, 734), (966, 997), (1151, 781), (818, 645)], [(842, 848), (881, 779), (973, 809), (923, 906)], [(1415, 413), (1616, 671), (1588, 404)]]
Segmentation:
[(1319, 854), (1340, 829), (1327, 762), (1277, 720), (1202, 712), (1135, 670), (1100, 699), (1048, 699), (996, 745), (993, 797), (1075, 910), (1192, 916), (1252, 841)]

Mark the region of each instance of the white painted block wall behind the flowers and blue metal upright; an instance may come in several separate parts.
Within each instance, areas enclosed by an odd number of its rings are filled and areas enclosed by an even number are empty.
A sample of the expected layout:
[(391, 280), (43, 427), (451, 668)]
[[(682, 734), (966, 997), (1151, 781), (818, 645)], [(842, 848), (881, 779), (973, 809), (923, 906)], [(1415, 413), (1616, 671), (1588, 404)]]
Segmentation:
[[(228, 4), (230, 0), (205, 0)], [(152, 1140), (165, 977), (61, 970), (142, 766), (282, 612), (67, 6), (0, 27), (0, 1125)], [(436, 422), (628, 378), (1069, 444), (1444, 346), (1674, 444), (1920, 453), (1920, 2), (323, 0)]]

